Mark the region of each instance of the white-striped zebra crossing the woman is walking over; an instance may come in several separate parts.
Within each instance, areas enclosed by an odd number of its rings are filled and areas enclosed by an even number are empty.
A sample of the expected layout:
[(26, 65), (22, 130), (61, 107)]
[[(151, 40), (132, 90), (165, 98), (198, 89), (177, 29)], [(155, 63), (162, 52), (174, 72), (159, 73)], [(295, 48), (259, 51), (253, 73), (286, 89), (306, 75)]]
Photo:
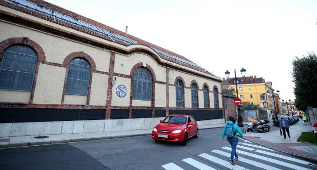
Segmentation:
[[(282, 155), (279, 152), (253, 144), (244, 140), (239, 142), (237, 146), (239, 160), (235, 161), (235, 165), (229, 162), (231, 155), (231, 147), (222, 147), (221, 150), (211, 150), (198, 156), (182, 159), (181, 162), (167, 163), (162, 165), (166, 170), (185, 170), (183, 167), (192, 167), (190, 169), (215, 170), (215, 169), (317, 169), (317, 165), (308, 161)], [(185, 165), (182, 163), (184, 162)], [(188, 166), (189, 165), (189, 166)], [(245, 167), (244, 167), (245, 166)]]

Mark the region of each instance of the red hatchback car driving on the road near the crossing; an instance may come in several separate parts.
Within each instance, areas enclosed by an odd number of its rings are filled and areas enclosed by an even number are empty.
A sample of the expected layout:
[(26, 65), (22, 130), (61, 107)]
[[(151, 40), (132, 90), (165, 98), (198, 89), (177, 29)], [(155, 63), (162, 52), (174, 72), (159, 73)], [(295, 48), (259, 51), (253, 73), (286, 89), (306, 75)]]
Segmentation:
[(181, 142), (186, 145), (187, 139), (198, 138), (198, 124), (193, 116), (172, 114), (167, 116), (152, 131), (152, 138), (157, 141)]

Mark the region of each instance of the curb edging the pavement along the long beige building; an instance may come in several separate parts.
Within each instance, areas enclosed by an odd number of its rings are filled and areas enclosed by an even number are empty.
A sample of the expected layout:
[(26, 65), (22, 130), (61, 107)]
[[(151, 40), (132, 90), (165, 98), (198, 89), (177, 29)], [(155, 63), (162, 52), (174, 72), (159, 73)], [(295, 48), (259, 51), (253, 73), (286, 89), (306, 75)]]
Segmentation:
[[(200, 128), (199, 130), (223, 128), (223, 126), (215, 126), (210, 128)], [(104, 140), (104, 139), (116, 139), (116, 138), (126, 138), (126, 137), (136, 137), (136, 136), (146, 136), (151, 135), (151, 133), (141, 133), (141, 134), (131, 134), (131, 135), (118, 135), (118, 136), (105, 136), (105, 137), (92, 137), (92, 138), (77, 138), (77, 139), (67, 139), (59, 141), (44, 141), (44, 142), (27, 142), (27, 143), (15, 143), (15, 144), (5, 144), (0, 145), (0, 149), (5, 148), (15, 148), (15, 147), (25, 147), (25, 146), (38, 146), (38, 145), (48, 145), (48, 144), (64, 144), (70, 142), (81, 142), (81, 141), (94, 141), (94, 140)]]

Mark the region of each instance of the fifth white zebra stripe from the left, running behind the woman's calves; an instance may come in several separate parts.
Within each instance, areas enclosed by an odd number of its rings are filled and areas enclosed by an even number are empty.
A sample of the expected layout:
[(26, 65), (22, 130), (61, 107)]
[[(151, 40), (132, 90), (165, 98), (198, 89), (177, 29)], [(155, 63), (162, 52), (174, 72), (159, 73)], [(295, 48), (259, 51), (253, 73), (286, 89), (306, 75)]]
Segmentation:
[[(231, 151), (231, 148), (229, 148), (229, 147), (222, 147), (222, 148)], [(265, 156), (261, 156), (261, 155), (257, 155), (257, 154), (253, 154), (253, 153), (250, 153), (250, 152), (244, 152), (244, 151), (241, 151), (241, 150), (238, 150), (238, 149), (236, 151), (238, 153), (241, 153), (241, 154), (244, 154), (244, 155), (247, 155), (247, 156), (251, 156), (251, 157), (254, 157), (254, 158), (257, 158), (257, 159), (262, 159), (262, 160), (269, 161), (269, 162), (272, 162), (272, 163), (276, 163), (276, 164), (279, 164), (279, 165), (282, 165), (282, 166), (287, 166), (287, 167), (292, 168), (292, 169), (301, 169), (301, 170), (305, 169), (305, 170), (308, 170), (308, 168), (305, 168), (305, 167), (302, 167), (302, 166), (298, 166), (298, 165), (295, 165), (295, 164), (279, 161), (279, 160), (276, 160), (276, 159), (271, 159), (271, 158), (268, 158), (268, 157), (265, 157)]]

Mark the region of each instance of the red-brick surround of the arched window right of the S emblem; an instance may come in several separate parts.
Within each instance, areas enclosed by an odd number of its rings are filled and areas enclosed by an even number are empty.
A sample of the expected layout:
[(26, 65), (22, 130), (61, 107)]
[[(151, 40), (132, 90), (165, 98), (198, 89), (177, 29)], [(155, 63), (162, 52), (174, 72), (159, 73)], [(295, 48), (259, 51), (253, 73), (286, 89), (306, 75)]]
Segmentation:
[[(130, 86), (130, 109), (129, 109), (129, 118), (132, 118), (132, 98), (133, 98), (133, 87), (134, 87), (134, 74), (136, 72), (136, 70), (139, 67), (144, 67), (143, 66), (143, 62), (137, 63), (135, 64), (130, 72), (130, 77), (131, 77), (131, 86)], [(145, 66), (151, 73), (152, 75), (152, 99), (151, 99), (151, 107), (152, 107), (152, 117), (154, 117), (154, 111), (155, 111), (155, 81), (156, 81), (156, 76), (155, 73), (152, 69), (152, 67), (148, 64), (146, 64)]]

